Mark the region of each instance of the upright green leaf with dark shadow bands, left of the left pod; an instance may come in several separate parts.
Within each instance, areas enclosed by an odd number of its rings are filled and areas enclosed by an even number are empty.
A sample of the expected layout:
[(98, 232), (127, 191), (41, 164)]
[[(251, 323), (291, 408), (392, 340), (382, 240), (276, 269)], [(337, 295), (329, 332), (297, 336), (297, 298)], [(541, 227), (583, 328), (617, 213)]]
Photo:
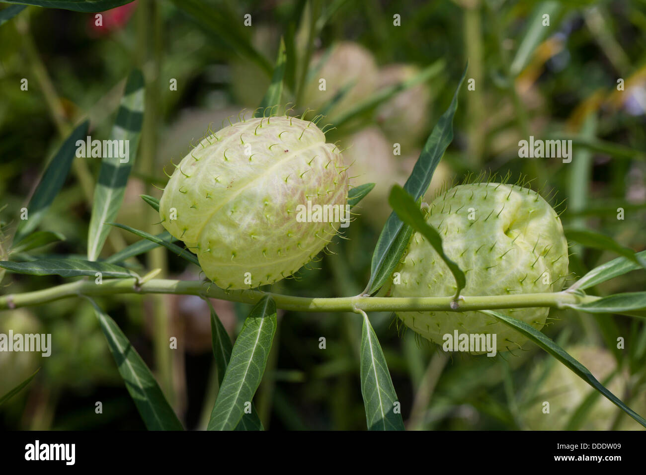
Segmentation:
[[(125, 185), (139, 145), (141, 123), (143, 123), (143, 101), (143, 76), (140, 70), (133, 70), (125, 85), (117, 118), (110, 132), (110, 141), (118, 140), (119, 143), (124, 141), (128, 144), (129, 156), (120, 158), (113, 147), (114, 156), (104, 156), (101, 159), (88, 233), (88, 260), (98, 259), (110, 232), (107, 222), (114, 220), (121, 207)], [(126, 161), (122, 162), (122, 160)]]

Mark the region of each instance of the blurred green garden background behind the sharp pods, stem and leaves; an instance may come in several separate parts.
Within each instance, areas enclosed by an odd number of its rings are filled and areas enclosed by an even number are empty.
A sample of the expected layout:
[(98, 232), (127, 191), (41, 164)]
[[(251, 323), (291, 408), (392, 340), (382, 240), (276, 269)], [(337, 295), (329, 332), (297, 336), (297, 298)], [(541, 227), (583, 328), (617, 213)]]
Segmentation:
[[(1, 10), (0, 10), (1, 11)], [(544, 13), (550, 26), (539, 26)], [(251, 14), (252, 25), (244, 26)], [(393, 15), (401, 26), (393, 26)], [(348, 229), (324, 255), (273, 291), (333, 297), (359, 293), (371, 250), (390, 208), (387, 193), (403, 184), (469, 61), (455, 116), (455, 138), (426, 195), (480, 173), (526, 174), (566, 226), (586, 226), (635, 251), (646, 248), (646, 3), (505, 0), (281, 1), (138, 0), (103, 14), (28, 7), (0, 26), (0, 253), (10, 247), (48, 158), (72, 127), (90, 119), (93, 138), (107, 138), (130, 70), (143, 70), (146, 111), (136, 165), (117, 221), (161, 232), (140, 199), (160, 196), (163, 168), (213, 130), (253, 112), (270, 83), (280, 38), (287, 45), (284, 102), (293, 113), (337, 125), (353, 182), (377, 186)], [(309, 65), (309, 67), (306, 67)], [(427, 80), (377, 107), (348, 115), (384, 88), (426, 70)], [(21, 79), (28, 79), (28, 91)], [(327, 91), (318, 90), (326, 78)], [(625, 81), (617, 90), (618, 79)], [(170, 90), (171, 79), (177, 90)], [(335, 100), (339, 98), (340, 100)], [(332, 107), (330, 107), (332, 103)], [(247, 112), (247, 115), (251, 114)], [(309, 115), (311, 114), (311, 115)], [(518, 141), (577, 138), (574, 160), (518, 158)], [(393, 144), (401, 156), (393, 155)], [(99, 160), (77, 159), (74, 173), (42, 229), (66, 240), (49, 255), (85, 253), (92, 186)], [(565, 200), (565, 202), (563, 202)], [(618, 220), (617, 208), (625, 209)], [(104, 255), (136, 237), (114, 229)], [(3, 256), (4, 258), (5, 256)], [(607, 251), (572, 248), (572, 279), (613, 259)], [(135, 263), (134, 265), (137, 265)], [(198, 279), (198, 269), (163, 249), (138, 260), (160, 277)], [(58, 277), (5, 275), (3, 293), (60, 284)], [(594, 289), (598, 295), (643, 290), (643, 272)], [(594, 293), (594, 292), (590, 292)], [(249, 306), (213, 301), (232, 337)], [(119, 295), (101, 305), (156, 373), (187, 428), (205, 428), (217, 390), (209, 309), (191, 296)], [(528, 343), (494, 358), (455, 354), (399, 328), (389, 313), (370, 315), (410, 429), (637, 428), (603, 397), (574, 381)], [(360, 317), (346, 313), (279, 314), (280, 326), (256, 407), (271, 429), (364, 429), (360, 394)], [(0, 427), (144, 428), (123, 386), (89, 303), (66, 299), (0, 312), (0, 332), (52, 333), (52, 356), (0, 353), (0, 394), (41, 371), (0, 408)], [(543, 329), (576, 348), (599, 381), (646, 414), (646, 327), (619, 315), (552, 310)], [(178, 350), (168, 341), (178, 337)], [(319, 348), (326, 337), (327, 347)], [(617, 338), (625, 349), (617, 348)], [(573, 354), (574, 355), (574, 354)], [(584, 361), (584, 359), (587, 359)], [(581, 385), (579, 385), (581, 383)], [(588, 399), (586, 399), (588, 397)], [(596, 400), (594, 398), (596, 397)], [(592, 400), (590, 401), (590, 398)], [(544, 400), (554, 401), (548, 419)], [(601, 401), (603, 399), (603, 401)], [(96, 401), (103, 414), (94, 412)]]

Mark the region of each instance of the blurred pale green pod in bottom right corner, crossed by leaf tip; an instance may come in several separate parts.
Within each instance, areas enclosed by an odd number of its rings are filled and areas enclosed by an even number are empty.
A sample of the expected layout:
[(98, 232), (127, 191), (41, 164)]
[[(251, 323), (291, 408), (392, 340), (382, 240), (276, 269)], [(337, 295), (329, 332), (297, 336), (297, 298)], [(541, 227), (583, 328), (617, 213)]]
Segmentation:
[[(615, 374), (606, 383), (617, 368), (614, 356), (605, 348), (592, 345), (576, 345), (565, 348), (574, 359), (590, 370), (590, 373), (603, 384), (612, 394), (622, 401), (629, 401), (626, 390), (629, 375), (625, 371)], [(549, 367), (547, 366), (549, 365)], [(547, 374), (545, 371), (547, 370)], [(543, 377), (543, 375), (545, 375)], [(543, 377), (542, 381), (540, 381)], [(536, 396), (530, 401), (525, 411), (525, 423), (530, 430), (563, 430), (567, 427), (570, 417), (594, 392), (592, 386), (583, 381), (570, 369), (554, 359), (543, 359), (537, 364), (530, 376), (528, 387), (538, 383)], [(628, 406), (643, 416), (646, 413), (646, 394), (637, 392), (628, 402)], [(543, 403), (550, 403), (549, 414), (543, 414)], [(620, 430), (643, 430), (643, 427), (625, 414), (601, 394), (596, 395), (596, 401), (589, 412), (583, 417), (580, 430), (610, 430), (616, 419), (621, 416), (618, 425)]]

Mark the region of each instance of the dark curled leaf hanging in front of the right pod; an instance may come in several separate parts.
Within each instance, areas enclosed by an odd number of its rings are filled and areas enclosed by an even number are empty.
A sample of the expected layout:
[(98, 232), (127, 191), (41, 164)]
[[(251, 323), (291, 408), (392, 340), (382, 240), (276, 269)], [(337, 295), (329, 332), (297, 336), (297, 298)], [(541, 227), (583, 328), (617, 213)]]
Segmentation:
[(433, 246), (435, 252), (444, 261), (444, 264), (448, 266), (449, 270), (455, 277), (455, 299), (459, 297), (460, 291), (463, 290), (466, 286), (466, 277), (464, 277), (464, 272), (459, 266), (449, 259), (449, 257), (444, 254), (444, 249), (442, 247), (442, 238), (439, 233), (433, 229), (426, 220), (424, 220), (424, 215), (422, 211), (413, 200), (413, 197), (410, 196), (404, 189), (399, 185), (394, 185), (390, 190), (390, 196), (388, 196), (388, 203), (395, 210), (397, 216), (408, 226), (413, 227), (415, 231), (421, 233), (426, 240)]

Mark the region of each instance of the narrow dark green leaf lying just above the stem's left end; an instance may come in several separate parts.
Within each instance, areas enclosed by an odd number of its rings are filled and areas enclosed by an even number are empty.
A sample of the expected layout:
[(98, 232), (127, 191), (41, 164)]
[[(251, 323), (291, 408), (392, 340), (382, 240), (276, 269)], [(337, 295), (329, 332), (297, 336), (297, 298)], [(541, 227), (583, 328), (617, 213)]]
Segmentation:
[(96, 273), (100, 272), (101, 277), (116, 277), (118, 279), (139, 277), (129, 269), (94, 260), (37, 259), (29, 262), (8, 262), (4, 260), (0, 261), (0, 267), (8, 271), (28, 275), (60, 275), (61, 277), (90, 275), (95, 277)]

